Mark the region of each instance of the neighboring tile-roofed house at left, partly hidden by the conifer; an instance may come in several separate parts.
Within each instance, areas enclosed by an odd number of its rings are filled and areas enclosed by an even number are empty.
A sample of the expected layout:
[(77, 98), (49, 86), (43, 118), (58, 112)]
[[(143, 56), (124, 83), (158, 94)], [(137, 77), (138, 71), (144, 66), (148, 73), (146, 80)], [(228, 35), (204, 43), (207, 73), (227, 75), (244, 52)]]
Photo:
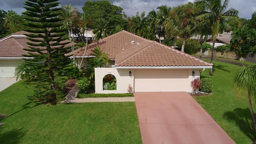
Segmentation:
[(29, 48), (27, 42), (31, 42), (24, 34), (30, 34), (30, 32), (20, 31), (0, 39), (0, 78), (14, 77), (18, 64), (22, 63), (23, 59), (31, 58), (22, 56), (27, 54), (27, 51), (23, 50)]

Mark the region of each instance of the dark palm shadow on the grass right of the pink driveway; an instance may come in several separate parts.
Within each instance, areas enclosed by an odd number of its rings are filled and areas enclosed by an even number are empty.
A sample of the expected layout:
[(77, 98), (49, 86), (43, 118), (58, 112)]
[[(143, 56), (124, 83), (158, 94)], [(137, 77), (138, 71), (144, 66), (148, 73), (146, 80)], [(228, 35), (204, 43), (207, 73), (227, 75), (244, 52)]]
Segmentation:
[(240, 128), (240, 131), (248, 136), (248, 138), (250, 138), (253, 142), (256, 140), (252, 116), (249, 108), (236, 108), (232, 112), (225, 112), (223, 116), (227, 120), (236, 122), (236, 125)]

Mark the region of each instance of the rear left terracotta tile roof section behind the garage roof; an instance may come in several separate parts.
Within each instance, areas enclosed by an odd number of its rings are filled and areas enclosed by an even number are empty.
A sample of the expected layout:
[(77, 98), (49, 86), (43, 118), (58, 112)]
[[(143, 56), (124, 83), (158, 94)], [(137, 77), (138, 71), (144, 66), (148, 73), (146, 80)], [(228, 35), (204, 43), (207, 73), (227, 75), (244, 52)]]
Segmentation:
[[(120, 32), (117, 32), (116, 34), (112, 34), (106, 38), (102, 38), (97, 42), (88, 44), (85, 56), (90, 56), (90, 54), (92, 53), (91, 50), (96, 48), (96, 46), (99, 46), (101, 49), (103, 48), (103, 52), (108, 54), (108, 57), (110, 59), (115, 59), (116, 55), (119, 54), (120, 52), (123, 52), (124, 50), (128, 50), (132, 46), (136, 45), (137, 42), (140, 43), (145, 40), (146, 40), (145, 38), (136, 36), (135, 34), (122, 30)], [(134, 41), (134, 43), (132, 43), (132, 41)], [(146, 40), (146, 41), (150, 41), (150, 40)], [(75, 56), (83, 56), (84, 49), (85, 47), (75, 50)], [(67, 55), (72, 55), (72, 53), (68, 53)]]

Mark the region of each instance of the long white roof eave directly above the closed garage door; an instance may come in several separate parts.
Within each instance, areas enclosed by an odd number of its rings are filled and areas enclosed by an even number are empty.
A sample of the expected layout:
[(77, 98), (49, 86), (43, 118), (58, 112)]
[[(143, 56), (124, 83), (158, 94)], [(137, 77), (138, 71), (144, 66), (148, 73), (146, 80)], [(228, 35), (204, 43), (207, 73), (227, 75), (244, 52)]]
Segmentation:
[(212, 68), (212, 66), (115, 66), (116, 69), (191, 69)]

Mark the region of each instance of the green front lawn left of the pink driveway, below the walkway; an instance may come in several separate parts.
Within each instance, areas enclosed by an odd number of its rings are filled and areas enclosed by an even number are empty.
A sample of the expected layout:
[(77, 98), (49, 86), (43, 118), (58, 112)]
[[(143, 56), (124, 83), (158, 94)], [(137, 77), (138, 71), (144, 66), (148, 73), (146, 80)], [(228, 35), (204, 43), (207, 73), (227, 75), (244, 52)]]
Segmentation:
[(141, 144), (134, 102), (57, 104), (27, 99), (22, 81), (0, 92), (0, 144)]

